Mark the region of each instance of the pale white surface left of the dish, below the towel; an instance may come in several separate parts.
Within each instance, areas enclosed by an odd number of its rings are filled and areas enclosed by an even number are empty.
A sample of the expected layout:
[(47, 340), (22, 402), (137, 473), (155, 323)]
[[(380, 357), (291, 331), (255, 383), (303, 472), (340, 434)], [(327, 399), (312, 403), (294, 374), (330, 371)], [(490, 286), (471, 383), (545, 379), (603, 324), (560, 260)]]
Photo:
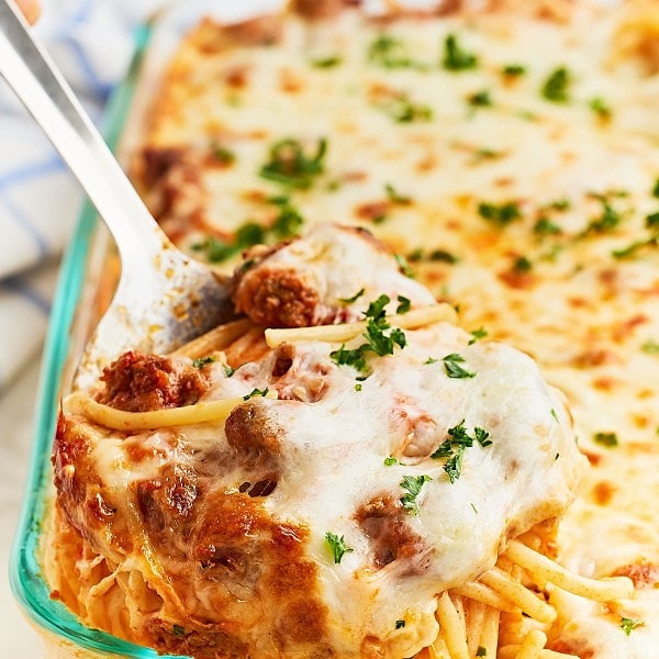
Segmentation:
[(30, 462), (40, 355), (0, 392), (0, 657), (37, 659), (40, 641), (9, 587), (9, 556)]

